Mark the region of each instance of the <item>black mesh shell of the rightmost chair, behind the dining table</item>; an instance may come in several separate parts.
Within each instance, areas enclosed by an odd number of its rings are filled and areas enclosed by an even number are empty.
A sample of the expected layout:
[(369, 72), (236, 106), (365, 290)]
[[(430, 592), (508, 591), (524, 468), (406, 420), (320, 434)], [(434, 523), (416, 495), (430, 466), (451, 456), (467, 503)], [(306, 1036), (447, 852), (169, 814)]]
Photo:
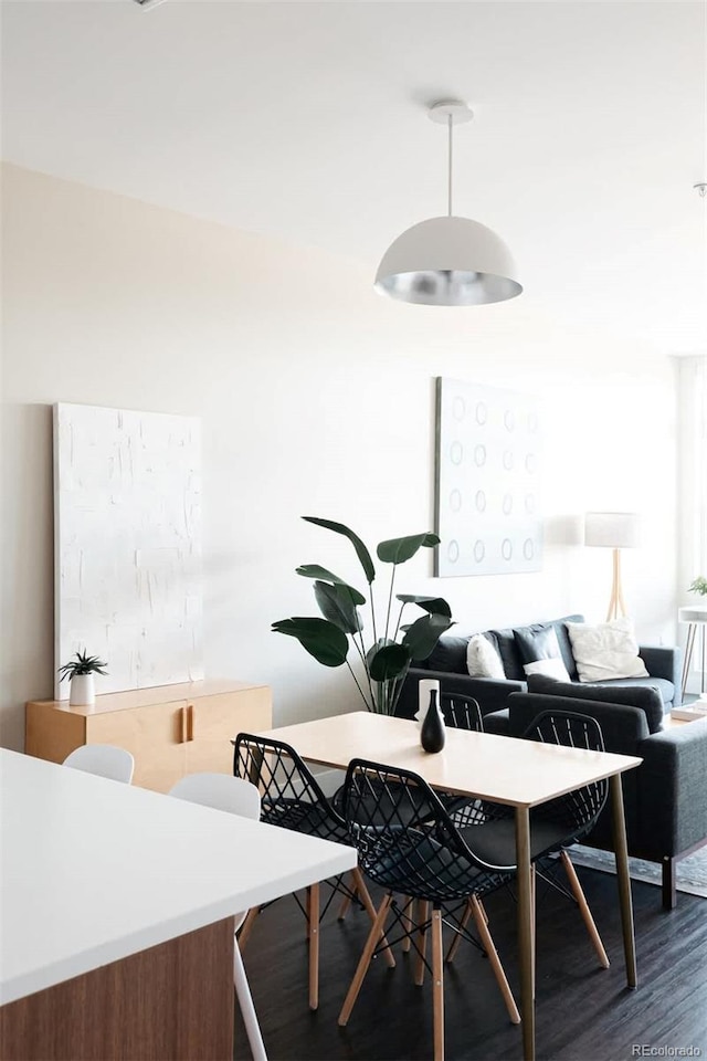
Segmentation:
[[(604, 750), (604, 738), (597, 719), (571, 711), (544, 711), (532, 719), (523, 736), (526, 740), (560, 744), (568, 748)], [(570, 843), (590, 832), (604, 809), (608, 796), (609, 780), (603, 778), (542, 803), (536, 813), (566, 827), (566, 842)]]

